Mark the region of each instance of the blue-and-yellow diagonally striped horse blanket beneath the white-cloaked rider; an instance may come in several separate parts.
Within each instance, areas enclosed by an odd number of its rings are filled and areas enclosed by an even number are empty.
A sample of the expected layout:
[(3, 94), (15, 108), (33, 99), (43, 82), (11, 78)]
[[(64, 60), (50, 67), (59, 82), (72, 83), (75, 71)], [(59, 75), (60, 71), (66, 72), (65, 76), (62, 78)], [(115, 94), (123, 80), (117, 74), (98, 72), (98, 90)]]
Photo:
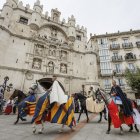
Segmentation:
[(67, 112), (65, 112), (62, 106), (58, 106), (57, 103), (54, 103), (51, 109), (48, 110), (49, 104), (49, 94), (46, 93), (40, 97), (37, 102), (32, 123), (35, 122), (36, 124), (40, 124), (41, 121), (48, 121), (50, 123), (64, 124), (69, 127), (75, 125), (72, 97), (68, 97), (68, 101), (64, 105), (67, 109)]

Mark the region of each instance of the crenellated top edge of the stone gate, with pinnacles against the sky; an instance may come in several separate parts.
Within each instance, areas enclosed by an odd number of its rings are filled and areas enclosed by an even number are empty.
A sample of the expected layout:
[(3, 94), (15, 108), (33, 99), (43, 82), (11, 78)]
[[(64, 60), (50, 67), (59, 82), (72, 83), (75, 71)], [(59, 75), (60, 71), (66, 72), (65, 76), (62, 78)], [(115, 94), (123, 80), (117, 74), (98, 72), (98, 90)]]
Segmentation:
[(25, 11), (26, 13), (28, 12), (31, 15), (29, 25), (32, 25), (31, 26), (32, 29), (35, 29), (35, 30), (39, 29), (43, 23), (52, 22), (55, 24), (59, 24), (60, 26), (72, 28), (74, 32), (77, 31), (83, 34), (87, 33), (87, 29), (85, 27), (76, 25), (76, 19), (74, 15), (71, 15), (70, 17), (68, 17), (67, 20), (64, 18), (61, 20), (60, 19), (61, 12), (57, 8), (52, 9), (50, 13), (48, 11), (43, 13), (43, 5), (41, 5), (40, 0), (36, 0), (36, 2), (34, 3), (33, 9), (30, 8), (29, 4), (26, 4), (24, 6), (22, 1), (7, 0), (2, 9), (2, 11), (4, 12), (1, 11), (0, 13), (4, 17), (8, 12), (12, 14), (14, 10), (17, 10), (17, 9)]

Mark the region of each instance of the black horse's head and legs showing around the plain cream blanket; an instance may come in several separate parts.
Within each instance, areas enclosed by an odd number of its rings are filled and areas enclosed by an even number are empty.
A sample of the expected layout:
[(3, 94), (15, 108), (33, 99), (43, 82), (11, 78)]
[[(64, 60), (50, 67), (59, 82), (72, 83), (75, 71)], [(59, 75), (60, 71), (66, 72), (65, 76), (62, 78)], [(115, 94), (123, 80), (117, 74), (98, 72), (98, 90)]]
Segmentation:
[[(75, 98), (75, 100), (77, 100), (77, 101), (78, 101), (78, 99), (79, 99), (80, 104), (81, 104), (81, 110), (80, 110), (80, 113), (79, 113), (79, 117), (78, 117), (77, 122), (79, 122), (80, 117), (81, 117), (81, 114), (82, 114), (83, 112), (85, 112), (86, 117), (87, 117), (87, 122), (89, 122), (88, 111), (87, 111), (87, 107), (86, 107), (86, 100), (87, 100), (87, 97), (84, 96), (84, 95), (81, 94), (81, 93), (75, 93), (74, 98)], [(103, 114), (103, 113), (104, 113), (104, 119), (107, 120), (107, 118), (106, 118), (106, 111), (105, 111), (105, 108), (104, 108), (103, 111), (99, 112), (100, 118), (99, 118), (99, 120), (98, 120), (98, 123), (101, 122), (101, 120), (102, 120), (102, 114)]]

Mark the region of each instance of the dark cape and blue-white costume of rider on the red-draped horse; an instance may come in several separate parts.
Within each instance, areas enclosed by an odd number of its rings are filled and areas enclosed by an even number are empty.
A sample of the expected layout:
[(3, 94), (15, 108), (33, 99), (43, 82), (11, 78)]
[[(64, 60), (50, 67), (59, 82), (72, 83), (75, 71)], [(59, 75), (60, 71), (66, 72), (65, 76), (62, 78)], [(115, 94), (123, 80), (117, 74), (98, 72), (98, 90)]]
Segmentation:
[(121, 88), (118, 85), (112, 86), (110, 93), (115, 93), (115, 96), (113, 96), (113, 100), (116, 104), (122, 104), (124, 115), (131, 116), (132, 111), (130, 109), (129, 101), (126, 98), (123, 91), (121, 90)]

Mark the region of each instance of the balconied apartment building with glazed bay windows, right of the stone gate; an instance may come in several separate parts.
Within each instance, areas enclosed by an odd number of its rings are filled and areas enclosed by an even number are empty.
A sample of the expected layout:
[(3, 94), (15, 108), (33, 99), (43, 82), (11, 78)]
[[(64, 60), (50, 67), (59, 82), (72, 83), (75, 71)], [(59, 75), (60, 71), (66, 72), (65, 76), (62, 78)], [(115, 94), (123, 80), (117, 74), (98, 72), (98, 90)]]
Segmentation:
[(113, 78), (126, 93), (132, 93), (126, 83), (124, 72), (126, 68), (135, 71), (136, 67), (140, 66), (140, 30), (94, 35), (88, 44), (98, 52), (98, 76), (101, 87), (110, 91)]

